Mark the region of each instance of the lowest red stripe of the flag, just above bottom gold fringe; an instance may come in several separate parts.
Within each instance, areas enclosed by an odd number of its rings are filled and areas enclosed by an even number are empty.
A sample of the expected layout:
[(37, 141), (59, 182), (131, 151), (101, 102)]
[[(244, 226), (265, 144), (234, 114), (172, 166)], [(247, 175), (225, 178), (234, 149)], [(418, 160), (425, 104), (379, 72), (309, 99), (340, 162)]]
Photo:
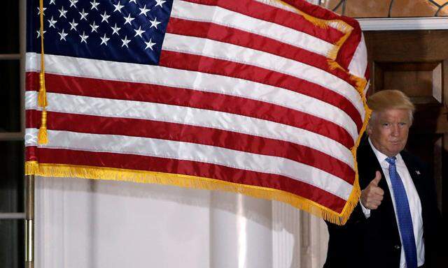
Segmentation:
[(321, 188), (288, 177), (249, 170), (239, 170), (223, 165), (195, 161), (179, 161), (172, 158), (39, 148), (39, 163), (89, 165), (107, 168), (177, 173), (220, 179), (222, 181), (229, 181), (237, 184), (276, 188), (295, 195), (300, 195), (328, 207), (337, 213), (342, 211), (344, 204), (346, 203), (342, 198), (332, 195), (327, 191), (323, 191)]

